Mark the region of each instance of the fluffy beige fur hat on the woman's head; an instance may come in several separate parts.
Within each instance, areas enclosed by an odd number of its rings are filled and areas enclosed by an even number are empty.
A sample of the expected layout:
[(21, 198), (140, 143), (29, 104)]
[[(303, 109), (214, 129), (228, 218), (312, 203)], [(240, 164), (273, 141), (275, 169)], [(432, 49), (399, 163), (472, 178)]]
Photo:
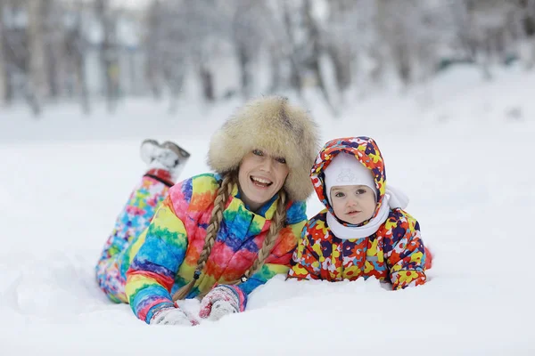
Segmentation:
[(313, 191), (309, 174), (319, 150), (317, 135), (317, 125), (306, 110), (284, 97), (260, 98), (238, 109), (212, 136), (208, 165), (226, 174), (237, 170), (251, 150), (268, 150), (286, 159), (288, 198), (306, 200)]

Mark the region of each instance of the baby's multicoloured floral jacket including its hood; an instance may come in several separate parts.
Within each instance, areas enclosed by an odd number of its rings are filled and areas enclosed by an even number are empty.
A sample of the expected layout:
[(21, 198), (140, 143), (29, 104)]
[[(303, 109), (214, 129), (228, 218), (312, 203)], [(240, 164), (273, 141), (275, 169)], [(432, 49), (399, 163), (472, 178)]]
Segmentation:
[(390, 281), (394, 289), (424, 284), (426, 253), (420, 226), (407, 212), (391, 209), (379, 230), (363, 239), (339, 239), (329, 229), (326, 214), (330, 211), (334, 215), (334, 212), (325, 195), (323, 172), (340, 152), (355, 155), (372, 171), (377, 197), (374, 216), (384, 202), (386, 174), (383, 157), (374, 140), (353, 137), (327, 142), (310, 174), (325, 210), (310, 219), (303, 229), (288, 276), (329, 281), (373, 276)]

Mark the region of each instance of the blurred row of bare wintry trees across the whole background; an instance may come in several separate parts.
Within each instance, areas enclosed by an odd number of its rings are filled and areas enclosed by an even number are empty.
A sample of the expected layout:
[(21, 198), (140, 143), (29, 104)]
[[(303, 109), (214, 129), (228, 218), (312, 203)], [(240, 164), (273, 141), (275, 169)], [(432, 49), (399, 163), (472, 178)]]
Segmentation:
[[(459, 59), (485, 77), (515, 58), (535, 67), (535, 0), (152, 0), (141, 31), (144, 53), (132, 61), (123, 61), (122, 30), (134, 17), (111, 3), (0, 0), (0, 105), (24, 95), (38, 114), (46, 100), (69, 96), (89, 112), (93, 82), (86, 73), (96, 68), (112, 110), (123, 83), (119, 69), (132, 75), (134, 61), (144, 61), (147, 92), (167, 94), (170, 110), (186, 78), (205, 101), (216, 101), (224, 61), (239, 70), (226, 94), (251, 97), (265, 56), (271, 83), (262, 89), (294, 90), (304, 99), (312, 88), (333, 112), (348, 93), (384, 83), (385, 73), (407, 88)], [(100, 45), (100, 63), (88, 57), (92, 44)]]

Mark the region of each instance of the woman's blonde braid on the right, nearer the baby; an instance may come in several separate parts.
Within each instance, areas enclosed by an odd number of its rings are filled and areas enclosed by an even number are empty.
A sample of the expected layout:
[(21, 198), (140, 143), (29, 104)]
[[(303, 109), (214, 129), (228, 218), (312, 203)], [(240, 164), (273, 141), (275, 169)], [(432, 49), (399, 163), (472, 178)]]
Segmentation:
[(264, 239), (262, 247), (259, 249), (259, 255), (254, 263), (252, 263), (251, 268), (243, 276), (229, 284), (238, 284), (240, 282), (245, 282), (247, 279), (250, 279), (251, 276), (259, 271), (260, 268), (266, 262), (268, 255), (271, 253), (273, 247), (275, 247), (276, 239), (278, 238), (279, 232), (284, 228), (284, 222), (286, 221), (286, 192), (281, 190), (279, 192), (279, 198), (276, 204), (276, 211), (273, 215), (273, 221), (269, 226), (268, 236)]

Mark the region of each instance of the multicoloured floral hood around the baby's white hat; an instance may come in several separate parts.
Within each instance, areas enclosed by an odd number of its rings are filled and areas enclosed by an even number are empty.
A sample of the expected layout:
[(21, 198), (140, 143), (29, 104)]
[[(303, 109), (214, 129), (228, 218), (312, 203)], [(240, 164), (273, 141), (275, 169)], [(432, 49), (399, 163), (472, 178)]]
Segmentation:
[[(375, 207), (372, 219), (377, 215), (383, 204), (384, 193), (386, 189), (386, 172), (384, 170), (383, 156), (373, 139), (365, 136), (345, 137), (334, 139), (325, 143), (322, 150), (319, 151), (316, 162), (310, 170), (310, 179), (317, 193), (317, 198), (323, 205), (334, 215), (333, 207), (325, 194), (325, 168), (333, 161), (339, 153), (346, 152), (354, 155), (358, 161), (372, 171), (375, 182), (377, 197), (377, 206)], [(327, 192), (328, 193), (328, 192)], [(341, 222), (343, 223), (343, 222)], [(367, 222), (363, 223), (366, 224)], [(343, 223), (348, 225), (348, 223)]]

